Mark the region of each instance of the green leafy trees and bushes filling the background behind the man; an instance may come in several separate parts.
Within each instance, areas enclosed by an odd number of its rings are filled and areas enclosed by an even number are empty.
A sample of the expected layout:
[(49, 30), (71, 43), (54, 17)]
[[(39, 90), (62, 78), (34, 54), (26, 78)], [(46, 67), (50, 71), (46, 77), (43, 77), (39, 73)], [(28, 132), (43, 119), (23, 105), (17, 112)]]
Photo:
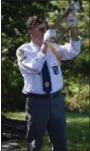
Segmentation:
[[(21, 94), (23, 80), (17, 66), (15, 51), (19, 45), (29, 41), (25, 22), (33, 13), (43, 12), (48, 23), (55, 23), (67, 6), (66, 1), (2, 0), (2, 110), (24, 110), (25, 98)], [(62, 63), (66, 109), (82, 111), (89, 101), (89, 2), (83, 1), (83, 12), (77, 14), (77, 29), (82, 37), (80, 55)], [(60, 31), (58, 31), (60, 32)], [(68, 34), (61, 43), (66, 42)], [(59, 42), (60, 43), (60, 42)], [(83, 95), (82, 95), (83, 94)], [(78, 100), (77, 100), (78, 98)]]

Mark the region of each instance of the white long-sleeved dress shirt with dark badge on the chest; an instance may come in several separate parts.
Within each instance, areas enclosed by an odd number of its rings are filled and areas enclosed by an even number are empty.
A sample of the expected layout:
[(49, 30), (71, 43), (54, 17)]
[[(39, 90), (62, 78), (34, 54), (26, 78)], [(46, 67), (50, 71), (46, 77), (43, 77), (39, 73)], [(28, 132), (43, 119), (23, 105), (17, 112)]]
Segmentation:
[[(61, 60), (70, 60), (79, 54), (81, 41), (70, 41), (70, 43), (65, 45), (52, 45), (57, 50)], [(51, 93), (62, 89), (63, 77), (61, 68), (50, 48), (44, 54), (40, 51), (40, 47), (31, 41), (21, 45), (16, 51), (16, 56), (24, 79), (23, 93), (45, 94), (42, 87), (42, 68), (45, 60), (47, 61), (51, 77)]]

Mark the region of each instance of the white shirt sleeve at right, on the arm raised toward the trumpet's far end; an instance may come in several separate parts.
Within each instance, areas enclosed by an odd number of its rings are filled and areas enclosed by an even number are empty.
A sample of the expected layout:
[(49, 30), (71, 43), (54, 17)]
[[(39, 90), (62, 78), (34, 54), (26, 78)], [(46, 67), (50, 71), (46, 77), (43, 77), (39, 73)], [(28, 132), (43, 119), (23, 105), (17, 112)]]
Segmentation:
[(81, 50), (81, 40), (70, 41), (65, 45), (58, 45), (57, 52), (61, 60), (70, 60), (76, 57)]

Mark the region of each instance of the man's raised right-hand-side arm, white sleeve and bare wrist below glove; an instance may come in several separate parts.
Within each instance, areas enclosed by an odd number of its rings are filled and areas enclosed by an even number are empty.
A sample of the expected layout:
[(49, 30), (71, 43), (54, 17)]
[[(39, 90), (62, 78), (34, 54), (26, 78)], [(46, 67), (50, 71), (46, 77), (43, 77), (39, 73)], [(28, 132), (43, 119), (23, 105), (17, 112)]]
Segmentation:
[(54, 44), (61, 60), (70, 60), (76, 57), (81, 50), (81, 37), (75, 29), (70, 30), (70, 42), (65, 45)]

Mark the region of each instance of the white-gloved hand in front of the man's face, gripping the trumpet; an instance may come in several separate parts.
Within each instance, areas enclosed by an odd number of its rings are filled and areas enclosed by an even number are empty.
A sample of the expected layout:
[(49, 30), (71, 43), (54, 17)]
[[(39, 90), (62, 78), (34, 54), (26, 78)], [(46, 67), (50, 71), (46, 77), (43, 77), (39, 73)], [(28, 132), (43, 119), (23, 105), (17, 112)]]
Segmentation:
[(53, 38), (56, 38), (56, 29), (48, 29), (44, 34), (43, 43), (48, 44)]

